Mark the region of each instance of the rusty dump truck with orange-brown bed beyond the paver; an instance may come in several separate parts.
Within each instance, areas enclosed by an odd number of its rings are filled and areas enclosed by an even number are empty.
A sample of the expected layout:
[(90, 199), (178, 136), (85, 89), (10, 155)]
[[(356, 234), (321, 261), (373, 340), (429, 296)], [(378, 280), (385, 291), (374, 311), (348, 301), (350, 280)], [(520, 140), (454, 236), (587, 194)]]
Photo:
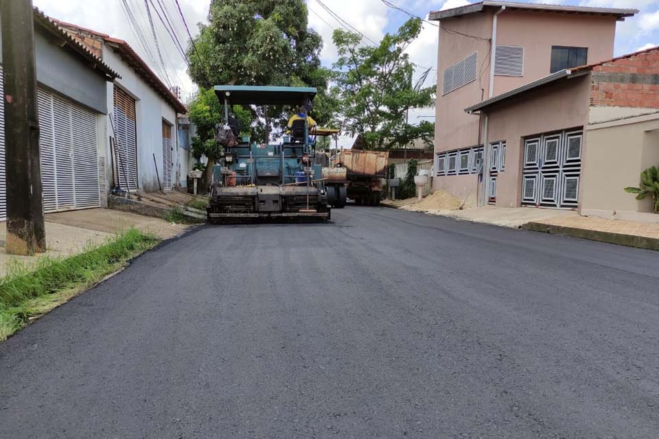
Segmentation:
[(368, 206), (380, 205), (388, 162), (383, 151), (335, 150), (330, 156), (330, 167), (345, 169), (347, 198)]

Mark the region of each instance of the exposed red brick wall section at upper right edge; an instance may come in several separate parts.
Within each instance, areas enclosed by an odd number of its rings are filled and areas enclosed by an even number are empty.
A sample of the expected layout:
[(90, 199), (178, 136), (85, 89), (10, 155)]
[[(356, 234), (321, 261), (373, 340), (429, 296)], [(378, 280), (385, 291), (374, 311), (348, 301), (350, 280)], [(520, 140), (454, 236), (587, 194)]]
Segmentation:
[(659, 49), (593, 67), (590, 105), (659, 108)]

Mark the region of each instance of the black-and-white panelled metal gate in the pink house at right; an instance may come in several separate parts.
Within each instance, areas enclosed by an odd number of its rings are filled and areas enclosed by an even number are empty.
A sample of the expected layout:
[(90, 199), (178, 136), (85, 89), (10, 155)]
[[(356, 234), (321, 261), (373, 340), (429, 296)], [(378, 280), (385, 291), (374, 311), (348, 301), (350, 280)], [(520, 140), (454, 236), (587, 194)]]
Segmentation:
[(523, 205), (577, 208), (582, 144), (581, 128), (524, 140)]

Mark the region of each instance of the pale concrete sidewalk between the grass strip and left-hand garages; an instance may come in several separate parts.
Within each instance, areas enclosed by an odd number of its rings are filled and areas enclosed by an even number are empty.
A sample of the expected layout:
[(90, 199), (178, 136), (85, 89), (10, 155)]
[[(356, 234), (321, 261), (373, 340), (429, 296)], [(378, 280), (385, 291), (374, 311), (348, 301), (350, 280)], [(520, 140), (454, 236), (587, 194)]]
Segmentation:
[(0, 276), (8, 271), (12, 261), (30, 264), (36, 263), (45, 255), (62, 257), (76, 254), (88, 246), (103, 244), (109, 237), (131, 227), (138, 228), (145, 233), (152, 233), (161, 239), (181, 235), (190, 227), (183, 224), (171, 224), (164, 219), (111, 209), (48, 213), (45, 215), (45, 219), (47, 252), (30, 257), (5, 253), (4, 241), (7, 230), (5, 223), (0, 222)]

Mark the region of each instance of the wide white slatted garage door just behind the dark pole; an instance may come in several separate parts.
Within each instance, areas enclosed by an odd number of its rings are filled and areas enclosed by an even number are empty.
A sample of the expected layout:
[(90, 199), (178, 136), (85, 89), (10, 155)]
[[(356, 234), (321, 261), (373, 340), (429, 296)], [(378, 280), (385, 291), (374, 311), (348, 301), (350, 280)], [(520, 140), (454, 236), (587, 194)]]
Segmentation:
[[(7, 211), (4, 115), (1, 107), (0, 220), (4, 220)], [(96, 114), (41, 89), (38, 90), (38, 112), (44, 212), (100, 207)]]

